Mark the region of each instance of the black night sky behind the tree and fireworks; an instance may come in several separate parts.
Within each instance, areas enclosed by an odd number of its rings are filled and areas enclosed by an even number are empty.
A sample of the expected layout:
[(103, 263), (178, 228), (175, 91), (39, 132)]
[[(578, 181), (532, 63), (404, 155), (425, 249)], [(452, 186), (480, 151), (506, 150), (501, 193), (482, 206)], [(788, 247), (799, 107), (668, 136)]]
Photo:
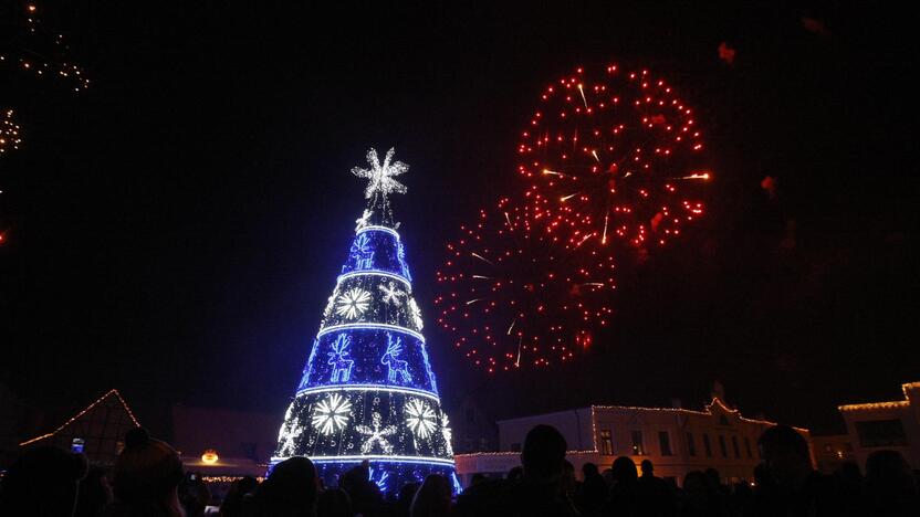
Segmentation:
[[(27, 134), (0, 158), (0, 382), (23, 400), (71, 411), (118, 388), (159, 432), (175, 403), (280, 423), (364, 208), (349, 170), (372, 146), (410, 166), (394, 203), (448, 402), (473, 393), (496, 419), (699, 408), (720, 380), (745, 414), (832, 432), (837, 404), (920, 380), (917, 13), (244, 3), (39, 3), (93, 86), (0, 68), (0, 104)], [(485, 376), (435, 325), (445, 243), (522, 189), (516, 135), (545, 85), (609, 61), (697, 108), (708, 217), (621, 272), (588, 356)]]

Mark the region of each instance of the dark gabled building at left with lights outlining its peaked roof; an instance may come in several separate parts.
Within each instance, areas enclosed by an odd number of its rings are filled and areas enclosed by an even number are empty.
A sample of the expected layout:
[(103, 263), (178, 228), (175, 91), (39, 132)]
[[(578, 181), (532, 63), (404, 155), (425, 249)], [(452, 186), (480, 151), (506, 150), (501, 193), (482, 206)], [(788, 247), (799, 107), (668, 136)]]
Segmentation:
[(125, 433), (139, 425), (118, 390), (111, 390), (58, 429), (19, 445), (54, 445), (82, 452), (91, 463), (113, 465), (124, 449)]

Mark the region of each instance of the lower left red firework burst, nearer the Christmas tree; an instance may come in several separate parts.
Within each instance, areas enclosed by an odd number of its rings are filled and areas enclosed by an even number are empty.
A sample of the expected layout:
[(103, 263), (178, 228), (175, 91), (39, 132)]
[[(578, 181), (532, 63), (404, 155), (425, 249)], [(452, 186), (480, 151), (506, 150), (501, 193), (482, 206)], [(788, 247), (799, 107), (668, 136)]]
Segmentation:
[(607, 325), (613, 258), (585, 261), (504, 198), (448, 243), (437, 272), (438, 324), (489, 372), (566, 361)]

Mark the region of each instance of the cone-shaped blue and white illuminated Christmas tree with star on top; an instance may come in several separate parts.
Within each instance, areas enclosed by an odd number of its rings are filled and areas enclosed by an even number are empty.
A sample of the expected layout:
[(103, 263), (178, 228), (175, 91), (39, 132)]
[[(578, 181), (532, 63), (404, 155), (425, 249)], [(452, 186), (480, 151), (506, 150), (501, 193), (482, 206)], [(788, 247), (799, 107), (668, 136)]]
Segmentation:
[(323, 313), (272, 465), (310, 457), (327, 486), (367, 460), (384, 492), (437, 473), (457, 487), (447, 414), (421, 334), (406, 253), (388, 194), (405, 193), (394, 177), (408, 170), (367, 154), (367, 209)]

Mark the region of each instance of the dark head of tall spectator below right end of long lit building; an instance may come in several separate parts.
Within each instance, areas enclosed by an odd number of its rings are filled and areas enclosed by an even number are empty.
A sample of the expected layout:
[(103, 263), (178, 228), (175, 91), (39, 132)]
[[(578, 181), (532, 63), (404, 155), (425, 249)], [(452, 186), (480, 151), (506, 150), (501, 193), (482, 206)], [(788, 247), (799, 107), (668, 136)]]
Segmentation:
[(780, 486), (799, 485), (812, 472), (808, 443), (788, 425), (774, 425), (764, 431), (757, 446)]

